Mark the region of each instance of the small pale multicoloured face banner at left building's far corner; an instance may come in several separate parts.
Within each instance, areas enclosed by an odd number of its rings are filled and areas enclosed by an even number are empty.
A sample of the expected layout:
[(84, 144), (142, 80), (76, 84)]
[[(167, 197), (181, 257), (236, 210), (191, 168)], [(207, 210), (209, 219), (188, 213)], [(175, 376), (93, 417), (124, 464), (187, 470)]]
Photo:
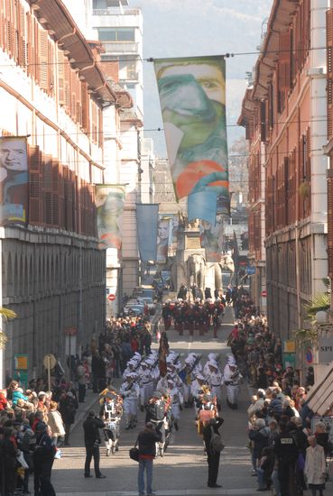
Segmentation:
[(97, 184), (95, 188), (99, 247), (120, 250), (123, 239), (125, 186)]

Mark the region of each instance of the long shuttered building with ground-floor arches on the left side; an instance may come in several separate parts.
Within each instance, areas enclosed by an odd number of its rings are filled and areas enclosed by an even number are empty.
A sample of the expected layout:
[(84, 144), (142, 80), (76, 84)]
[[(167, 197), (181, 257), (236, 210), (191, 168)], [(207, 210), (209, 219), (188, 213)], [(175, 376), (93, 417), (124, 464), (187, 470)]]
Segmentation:
[(0, 228), (1, 304), (17, 314), (4, 326), (5, 373), (28, 354), (32, 376), (45, 354), (65, 361), (69, 332), (79, 353), (104, 325), (93, 185), (116, 94), (60, 0), (0, 0), (0, 26), (0, 132), (26, 137), (29, 171), (26, 225)]

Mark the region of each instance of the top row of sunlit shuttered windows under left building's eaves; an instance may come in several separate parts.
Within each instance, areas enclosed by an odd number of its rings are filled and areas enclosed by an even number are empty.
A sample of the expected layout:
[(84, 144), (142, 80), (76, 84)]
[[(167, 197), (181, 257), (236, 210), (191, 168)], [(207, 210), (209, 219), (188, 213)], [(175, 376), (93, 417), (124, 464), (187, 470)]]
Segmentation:
[(90, 98), (87, 83), (20, 0), (0, 0), (0, 48), (101, 146), (102, 111)]

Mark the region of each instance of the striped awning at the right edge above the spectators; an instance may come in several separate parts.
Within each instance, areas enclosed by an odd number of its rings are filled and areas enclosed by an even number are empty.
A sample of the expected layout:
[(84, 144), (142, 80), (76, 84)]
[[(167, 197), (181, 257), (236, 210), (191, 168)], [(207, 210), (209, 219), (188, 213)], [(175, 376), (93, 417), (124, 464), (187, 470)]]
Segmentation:
[(333, 363), (321, 372), (308, 395), (308, 406), (317, 415), (326, 415), (333, 407)]

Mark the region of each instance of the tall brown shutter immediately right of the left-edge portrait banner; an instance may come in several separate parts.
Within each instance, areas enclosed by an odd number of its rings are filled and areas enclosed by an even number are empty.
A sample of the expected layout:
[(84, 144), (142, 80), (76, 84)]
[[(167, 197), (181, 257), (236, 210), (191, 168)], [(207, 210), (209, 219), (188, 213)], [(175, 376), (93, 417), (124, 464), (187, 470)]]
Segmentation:
[(42, 223), (42, 156), (38, 146), (29, 147), (29, 224)]

